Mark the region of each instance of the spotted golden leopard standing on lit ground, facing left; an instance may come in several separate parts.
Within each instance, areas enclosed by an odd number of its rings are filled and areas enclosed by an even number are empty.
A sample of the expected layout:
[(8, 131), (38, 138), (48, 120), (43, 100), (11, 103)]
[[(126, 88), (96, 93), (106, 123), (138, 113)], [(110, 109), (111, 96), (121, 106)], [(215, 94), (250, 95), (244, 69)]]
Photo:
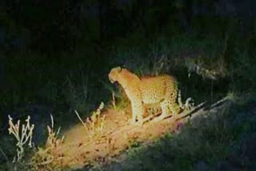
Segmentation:
[(139, 78), (130, 70), (117, 66), (110, 70), (108, 77), (111, 83), (118, 82), (122, 86), (130, 100), (131, 123), (143, 123), (146, 104), (160, 104), (162, 113), (158, 120), (178, 115), (178, 81), (174, 76), (163, 74)]

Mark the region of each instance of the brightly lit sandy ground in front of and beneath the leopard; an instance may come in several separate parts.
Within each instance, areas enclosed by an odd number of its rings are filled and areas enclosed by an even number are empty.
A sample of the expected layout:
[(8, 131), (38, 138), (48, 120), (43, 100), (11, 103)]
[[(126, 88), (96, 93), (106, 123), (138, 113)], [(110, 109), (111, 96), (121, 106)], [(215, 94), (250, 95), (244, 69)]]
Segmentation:
[[(209, 112), (200, 109), (200, 106), (198, 108), (193, 116)], [(170, 117), (162, 121), (149, 121), (144, 125), (130, 125), (130, 114), (109, 109), (102, 113), (106, 115), (106, 122), (100, 136), (90, 137), (82, 124), (64, 133), (65, 141), (58, 149), (58, 153), (63, 156), (62, 167), (78, 169), (86, 165), (107, 164), (138, 143), (150, 143), (157, 137), (177, 131), (182, 122), (186, 121), (181, 119), (186, 114), (181, 113), (179, 121)]]

